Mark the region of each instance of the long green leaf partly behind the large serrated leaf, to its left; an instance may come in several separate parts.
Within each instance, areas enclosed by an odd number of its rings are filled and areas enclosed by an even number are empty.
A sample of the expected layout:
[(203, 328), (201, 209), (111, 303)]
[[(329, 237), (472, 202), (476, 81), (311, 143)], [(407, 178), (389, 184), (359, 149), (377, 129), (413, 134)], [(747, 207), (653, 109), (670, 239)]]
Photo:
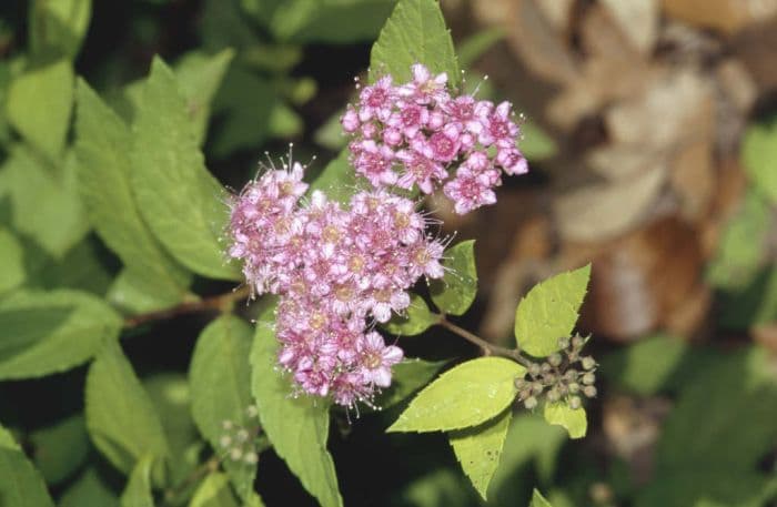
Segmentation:
[[(82, 80), (77, 97), (81, 195), (100, 237), (127, 266), (115, 283), (115, 301), (127, 301), (122, 306), (138, 311), (174, 305), (185, 297), (191, 276), (163, 251), (141, 217), (130, 182), (132, 134)], [(150, 300), (147, 304), (132, 304), (143, 294)]]

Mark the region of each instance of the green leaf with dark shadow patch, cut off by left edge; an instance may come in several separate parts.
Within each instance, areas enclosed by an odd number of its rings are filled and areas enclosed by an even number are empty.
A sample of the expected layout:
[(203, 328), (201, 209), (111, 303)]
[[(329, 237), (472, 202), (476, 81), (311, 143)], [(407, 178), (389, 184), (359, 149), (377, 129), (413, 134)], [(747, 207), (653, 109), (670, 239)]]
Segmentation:
[(97, 297), (69, 290), (17, 292), (0, 301), (0, 379), (64, 372), (113, 342), (121, 317)]

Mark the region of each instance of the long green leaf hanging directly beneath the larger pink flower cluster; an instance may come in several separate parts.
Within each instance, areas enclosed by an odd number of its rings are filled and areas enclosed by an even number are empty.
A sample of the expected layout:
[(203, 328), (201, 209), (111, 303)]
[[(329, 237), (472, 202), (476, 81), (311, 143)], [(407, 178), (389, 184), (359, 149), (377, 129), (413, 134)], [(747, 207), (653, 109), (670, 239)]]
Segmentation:
[(268, 308), (258, 320), (251, 349), (251, 386), (260, 423), (275, 453), (307, 493), (323, 507), (342, 507), (334, 463), (326, 450), (329, 404), (321, 398), (291, 396), (292, 387), (276, 367), (278, 341), (272, 321), (273, 308)]

